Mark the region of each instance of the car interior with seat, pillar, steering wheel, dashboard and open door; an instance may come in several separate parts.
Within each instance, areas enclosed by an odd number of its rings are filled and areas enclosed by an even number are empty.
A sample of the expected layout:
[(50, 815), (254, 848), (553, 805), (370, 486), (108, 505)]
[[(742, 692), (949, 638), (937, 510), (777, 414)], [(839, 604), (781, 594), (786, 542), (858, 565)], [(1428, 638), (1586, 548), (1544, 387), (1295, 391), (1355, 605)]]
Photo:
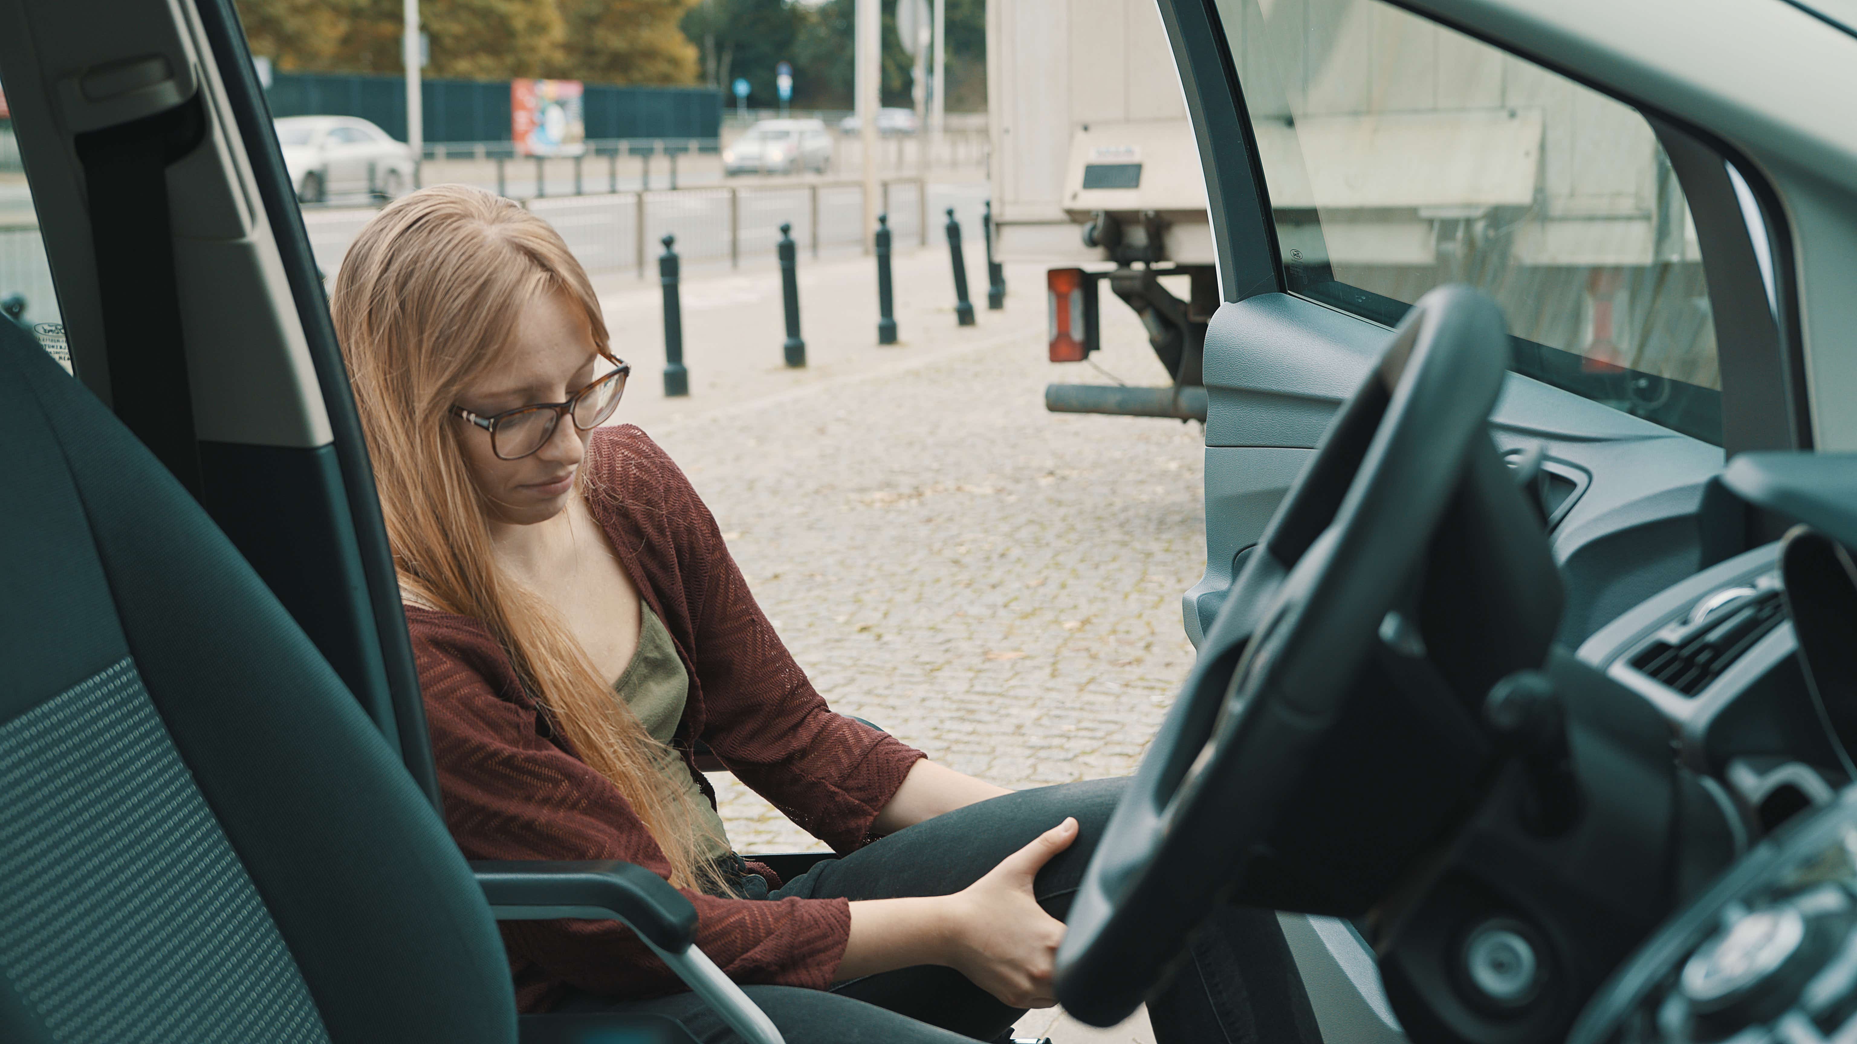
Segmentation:
[[(1159, 15), (1220, 258), (1207, 570), (1066, 1011), (1233, 903), (1330, 1044), (1857, 1040), (1857, 20)], [(782, 1040), (663, 879), (448, 836), (232, 2), (4, 0), (0, 78), (56, 284), (0, 321), (0, 1038), (678, 1038), (518, 1018), (496, 921), (600, 918)]]

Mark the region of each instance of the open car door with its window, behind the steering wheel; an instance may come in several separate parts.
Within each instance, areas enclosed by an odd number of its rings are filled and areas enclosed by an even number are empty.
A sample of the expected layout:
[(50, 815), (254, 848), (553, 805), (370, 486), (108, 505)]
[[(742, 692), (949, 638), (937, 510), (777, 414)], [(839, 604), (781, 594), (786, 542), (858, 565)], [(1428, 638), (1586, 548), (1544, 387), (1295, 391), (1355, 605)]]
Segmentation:
[[(1504, 4), (1458, 7), (1500, 24)], [(1445, 282), (1508, 316), (1491, 431), (1547, 451), (1567, 643), (1721, 554), (1725, 453), (1811, 446), (1786, 273), (1762, 260), (1785, 264), (1785, 219), (1707, 130), (1385, 0), (1161, 9), (1224, 295), (1194, 641), (1387, 329)]]

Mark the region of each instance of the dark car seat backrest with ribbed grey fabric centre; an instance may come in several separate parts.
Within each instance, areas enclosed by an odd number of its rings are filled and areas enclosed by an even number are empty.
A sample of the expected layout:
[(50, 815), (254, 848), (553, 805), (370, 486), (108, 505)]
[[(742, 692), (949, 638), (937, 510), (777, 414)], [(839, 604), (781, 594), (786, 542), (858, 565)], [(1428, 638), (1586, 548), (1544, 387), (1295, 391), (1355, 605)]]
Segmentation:
[(0, 1040), (516, 1038), (431, 804), (204, 511), (0, 321)]

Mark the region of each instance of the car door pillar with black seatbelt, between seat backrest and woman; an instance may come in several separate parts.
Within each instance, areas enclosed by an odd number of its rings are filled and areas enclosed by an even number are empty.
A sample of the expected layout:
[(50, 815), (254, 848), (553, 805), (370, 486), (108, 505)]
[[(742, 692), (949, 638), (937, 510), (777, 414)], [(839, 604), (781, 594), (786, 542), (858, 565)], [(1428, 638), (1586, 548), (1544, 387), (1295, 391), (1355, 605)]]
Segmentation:
[(37, 217), (6, 258), (24, 320), (202, 503), (436, 803), (360, 422), (232, 2), (0, 0), (0, 76)]

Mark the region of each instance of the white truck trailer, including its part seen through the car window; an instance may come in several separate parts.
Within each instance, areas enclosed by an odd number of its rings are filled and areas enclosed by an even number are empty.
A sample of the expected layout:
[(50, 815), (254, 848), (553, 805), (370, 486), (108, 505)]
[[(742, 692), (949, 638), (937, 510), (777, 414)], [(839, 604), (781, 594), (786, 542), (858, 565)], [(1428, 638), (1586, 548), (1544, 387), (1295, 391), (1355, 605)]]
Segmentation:
[[(1708, 346), (1634, 342), (1643, 301), (1632, 297), (1660, 290), (1621, 273), (1679, 262), (1681, 282), (1701, 284), (1695, 227), (1642, 119), (1582, 104), (1571, 84), (1458, 39), (1434, 45), (1428, 74), (1372, 82), (1376, 54), (1441, 30), (1369, 17), (1357, 0), (1248, 11), (1226, 32), (1287, 290), (1318, 301), (1367, 292), (1393, 323), (1413, 288), (1478, 282), (1495, 266), (1536, 288), (1519, 297), (1538, 314), (1510, 303), (1519, 336), (1604, 346), (1586, 355), (1714, 381), (1692, 372), (1714, 359)], [(1053, 360), (1097, 346), (1107, 282), (1174, 377), (1170, 388), (1051, 385), (1045, 405), (1203, 420), (1214, 243), (1153, 0), (990, 0), (986, 19), (995, 256), (1051, 266)], [(1452, 165), (1439, 169), (1441, 156)], [(1710, 336), (1705, 320), (1697, 312), (1694, 338)], [(1560, 329), (1569, 321), (1577, 334)]]

